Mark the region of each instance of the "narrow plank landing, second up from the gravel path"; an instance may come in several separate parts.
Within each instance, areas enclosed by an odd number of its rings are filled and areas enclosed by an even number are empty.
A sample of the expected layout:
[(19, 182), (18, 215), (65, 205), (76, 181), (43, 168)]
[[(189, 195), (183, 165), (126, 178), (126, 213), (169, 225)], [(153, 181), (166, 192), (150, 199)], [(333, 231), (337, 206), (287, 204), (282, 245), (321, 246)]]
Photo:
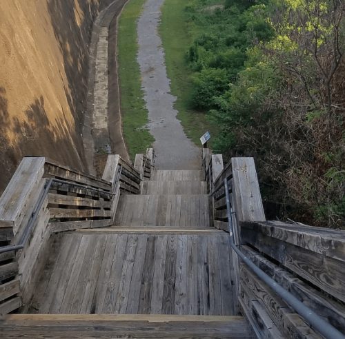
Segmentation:
[(141, 194), (207, 194), (206, 181), (144, 181)]

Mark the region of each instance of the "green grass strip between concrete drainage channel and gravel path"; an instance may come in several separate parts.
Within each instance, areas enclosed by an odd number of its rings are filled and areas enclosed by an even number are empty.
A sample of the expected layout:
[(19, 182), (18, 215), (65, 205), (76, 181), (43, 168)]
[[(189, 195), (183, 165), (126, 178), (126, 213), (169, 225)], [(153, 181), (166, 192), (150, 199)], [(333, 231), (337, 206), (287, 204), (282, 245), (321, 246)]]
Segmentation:
[(155, 138), (144, 127), (148, 123), (148, 110), (141, 90), (141, 75), (137, 63), (137, 18), (141, 14), (145, 0), (130, 0), (119, 20), (119, 79), (121, 91), (121, 111), (123, 114), (124, 138), (130, 158), (146, 153)]

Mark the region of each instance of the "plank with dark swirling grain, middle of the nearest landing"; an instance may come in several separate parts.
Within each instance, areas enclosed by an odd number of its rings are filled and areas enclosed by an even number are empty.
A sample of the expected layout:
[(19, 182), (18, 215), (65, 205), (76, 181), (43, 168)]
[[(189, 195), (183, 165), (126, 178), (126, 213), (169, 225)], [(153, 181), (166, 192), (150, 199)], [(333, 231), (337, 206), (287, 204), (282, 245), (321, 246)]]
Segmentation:
[(166, 246), (162, 314), (174, 314), (175, 312), (176, 255), (177, 236), (169, 235)]

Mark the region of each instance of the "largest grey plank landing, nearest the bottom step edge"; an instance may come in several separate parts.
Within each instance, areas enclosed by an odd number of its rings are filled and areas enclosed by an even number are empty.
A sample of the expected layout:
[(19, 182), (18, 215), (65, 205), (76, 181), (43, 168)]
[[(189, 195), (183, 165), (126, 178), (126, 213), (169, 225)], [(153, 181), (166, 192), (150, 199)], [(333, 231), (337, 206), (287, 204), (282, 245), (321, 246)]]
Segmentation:
[(234, 315), (228, 236), (55, 234), (28, 313)]

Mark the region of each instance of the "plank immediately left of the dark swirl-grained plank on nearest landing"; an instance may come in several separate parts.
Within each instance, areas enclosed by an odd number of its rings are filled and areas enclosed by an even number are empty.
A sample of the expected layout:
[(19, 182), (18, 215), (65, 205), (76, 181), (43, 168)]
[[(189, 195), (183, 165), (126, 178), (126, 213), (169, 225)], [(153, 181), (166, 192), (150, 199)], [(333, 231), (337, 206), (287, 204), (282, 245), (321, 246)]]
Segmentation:
[(164, 269), (166, 264), (166, 246), (168, 236), (157, 237), (154, 276), (152, 280), (151, 314), (161, 314), (164, 289)]

